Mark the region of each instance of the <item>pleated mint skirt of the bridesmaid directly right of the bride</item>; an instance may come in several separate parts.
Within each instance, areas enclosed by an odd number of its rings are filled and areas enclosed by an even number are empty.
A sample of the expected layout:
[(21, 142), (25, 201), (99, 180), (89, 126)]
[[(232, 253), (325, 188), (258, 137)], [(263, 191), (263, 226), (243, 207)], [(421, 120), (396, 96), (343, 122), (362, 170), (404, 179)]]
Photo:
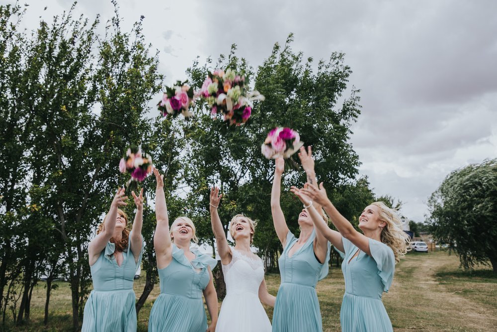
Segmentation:
[(323, 322), (316, 289), (282, 283), (273, 311), (273, 332), (322, 332)]

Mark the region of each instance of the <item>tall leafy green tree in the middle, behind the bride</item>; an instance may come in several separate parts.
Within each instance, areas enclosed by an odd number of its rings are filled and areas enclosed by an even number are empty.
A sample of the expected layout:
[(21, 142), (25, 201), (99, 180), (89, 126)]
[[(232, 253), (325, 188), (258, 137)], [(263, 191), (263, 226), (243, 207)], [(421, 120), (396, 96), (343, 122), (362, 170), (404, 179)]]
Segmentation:
[[(260, 152), (267, 132), (274, 126), (296, 129), (306, 145), (313, 146), (316, 173), (331, 187), (354, 179), (359, 166), (358, 156), (348, 143), (350, 126), (360, 113), (358, 90), (352, 88), (350, 96), (337, 105), (351, 74), (343, 63), (344, 55), (332, 53), (329, 60), (318, 63), (314, 72), (313, 59), (293, 52), (292, 41), (289, 35), (283, 47), (276, 43), (255, 74), (243, 58), (235, 55), (235, 45), (229, 56), (221, 56), (215, 66), (210, 59), (203, 66), (196, 61), (187, 71), (194, 85), (200, 86), (209, 69), (229, 67), (245, 73), (248, 81), (254, 82), (255, 90), (266, 97), (255, 105), (251, 120), (236, 130), (226, 130), (220, 119), (212, 119), (204, 109), (185, 128), (189, 152), (183, 164), (184, 179), (191, 188), (188, 209), (197, 217), (201, 238), (213, 243), (208, 188), (218, 185), (224, 194), (219, 215), (225, 231), (235, 213), (258, 220), (254, 246), (269, 269), (277, 267), (281, 248), (269, 206), (274, 162)], [(281, 205), (294, 232), (298, 232), (297, 216), (302, 205), (288, 189), (305, 181), (303, 172), (285, 173)]]

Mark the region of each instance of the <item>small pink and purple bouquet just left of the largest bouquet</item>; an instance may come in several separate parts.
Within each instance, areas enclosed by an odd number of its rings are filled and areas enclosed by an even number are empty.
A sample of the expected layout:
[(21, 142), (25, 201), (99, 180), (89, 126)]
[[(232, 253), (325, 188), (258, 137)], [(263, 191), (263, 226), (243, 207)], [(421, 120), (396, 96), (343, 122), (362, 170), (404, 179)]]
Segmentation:
[(194, 93), (193, 88), (187, 85), (188, 81), (181, 83), (176, 81), (172, 88), (166, 87), (166, 92), (162, 96), (162, 100), (157, 104), (157, 108), (162, 112), (163, 116), (183, 114), (185, 118), (193, 115), (188, 111), (188, 108), (193, 105)]

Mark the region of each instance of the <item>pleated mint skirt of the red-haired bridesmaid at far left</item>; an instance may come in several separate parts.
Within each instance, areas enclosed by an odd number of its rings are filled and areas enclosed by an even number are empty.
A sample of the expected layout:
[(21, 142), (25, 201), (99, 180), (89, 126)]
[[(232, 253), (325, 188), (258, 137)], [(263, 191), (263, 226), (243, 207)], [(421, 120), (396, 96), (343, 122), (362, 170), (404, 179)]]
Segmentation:
[(136, 332), (135, 292), (91, 291), (83, 311), (82, 332)]

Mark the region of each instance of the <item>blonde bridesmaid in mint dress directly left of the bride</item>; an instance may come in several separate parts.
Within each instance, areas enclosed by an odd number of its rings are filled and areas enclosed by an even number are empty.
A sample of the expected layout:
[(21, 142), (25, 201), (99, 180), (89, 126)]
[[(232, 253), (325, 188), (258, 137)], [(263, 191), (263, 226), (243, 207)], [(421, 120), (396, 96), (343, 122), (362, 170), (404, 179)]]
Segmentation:
[[(161, 294), (154, 302), (149, 318), (150, 332), (214, 332), (218, 319), (218, 301), (212, 281), (217, 261), (197, 249), (190, 249), (195, 225), (186, 217), (177, 218), (169, 230), (164, 175), (154, 169), (157, 180), (154, 248), (161, 280)], [(202, 301), (204, 294), (211, 325), (207, 327)]]

